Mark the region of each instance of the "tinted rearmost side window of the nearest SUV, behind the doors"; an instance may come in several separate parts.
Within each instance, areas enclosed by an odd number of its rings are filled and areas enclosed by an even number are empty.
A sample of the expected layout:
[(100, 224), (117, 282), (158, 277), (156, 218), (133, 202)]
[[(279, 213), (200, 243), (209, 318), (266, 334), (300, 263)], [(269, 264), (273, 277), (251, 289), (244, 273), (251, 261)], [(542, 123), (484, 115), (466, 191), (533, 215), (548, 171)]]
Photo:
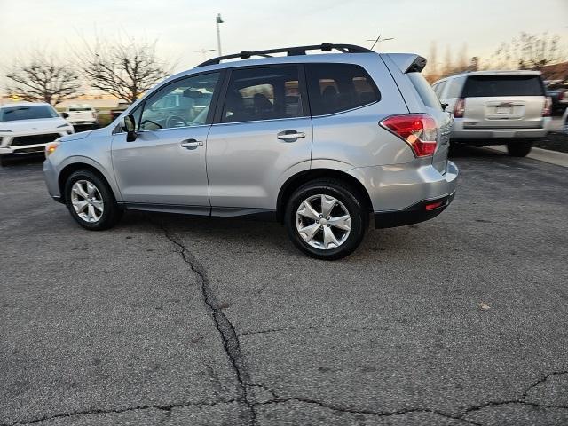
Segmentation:
[(352, 64), (307, 64), (312, 115), (334, 114), (378, 102), (381, 94), (367, 71)]

